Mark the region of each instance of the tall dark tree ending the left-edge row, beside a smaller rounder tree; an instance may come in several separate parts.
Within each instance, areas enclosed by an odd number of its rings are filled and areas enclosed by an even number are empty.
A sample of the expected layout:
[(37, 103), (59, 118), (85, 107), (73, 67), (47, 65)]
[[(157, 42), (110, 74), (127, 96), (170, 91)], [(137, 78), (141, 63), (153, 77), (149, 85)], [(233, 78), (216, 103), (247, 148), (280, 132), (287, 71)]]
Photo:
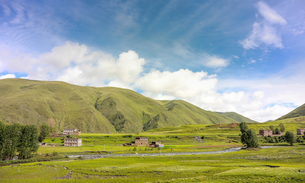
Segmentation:
[(18, 159), (32, 157), (32, 153), (38, 150), (38, 129), (34, 125), (23, 126), (18, 144)]

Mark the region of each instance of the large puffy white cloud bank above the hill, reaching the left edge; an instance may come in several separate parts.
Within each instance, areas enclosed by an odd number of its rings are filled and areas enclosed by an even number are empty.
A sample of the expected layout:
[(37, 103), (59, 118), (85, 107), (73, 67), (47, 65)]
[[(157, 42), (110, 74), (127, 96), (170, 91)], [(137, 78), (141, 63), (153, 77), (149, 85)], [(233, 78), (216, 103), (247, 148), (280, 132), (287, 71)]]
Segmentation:
[[(72, 84), (130, 87), (143, 72), (144, 58), (135, 51), (122, 52), (118, 58), (86, 45), (66, 42), (50, 52), (35, 56), (7, 48), (0, 58), (0, 72), (27, 73), (27, 79), (61, 80)], [(18, 55), (18, 56), (17, 56)]]

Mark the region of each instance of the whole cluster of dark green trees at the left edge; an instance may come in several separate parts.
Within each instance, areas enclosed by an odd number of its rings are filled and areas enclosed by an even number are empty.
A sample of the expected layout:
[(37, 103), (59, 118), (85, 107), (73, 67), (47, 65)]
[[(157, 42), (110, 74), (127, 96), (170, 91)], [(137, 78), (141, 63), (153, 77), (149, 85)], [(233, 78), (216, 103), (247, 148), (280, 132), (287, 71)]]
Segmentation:
[[(43, 126), (40, 129), (45, 129)], [(0, 121), (0, 160), (12, 160), (16, 155), (18, 159), (31, 158), (38, 150), (38, 138), (42, 141), (49, 134), (49, 129), (46, 131), (39, 134), (34, 125), (5, 125)]]

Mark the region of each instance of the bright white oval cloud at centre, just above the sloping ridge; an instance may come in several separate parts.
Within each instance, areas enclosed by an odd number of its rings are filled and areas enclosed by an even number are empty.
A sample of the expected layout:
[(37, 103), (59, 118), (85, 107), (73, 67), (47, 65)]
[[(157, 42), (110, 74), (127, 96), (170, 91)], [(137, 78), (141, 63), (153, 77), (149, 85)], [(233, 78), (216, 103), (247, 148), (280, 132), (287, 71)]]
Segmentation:
[[(150, 97), (163, 94), (170, 98), (191, 98), (207, 93), (215, 88), (216, 75), (208, 75), (207, 72), (192, 72), (188, 69), (179, 71), (156, 71), (152, 70), (135, 82), (135, 87), (145, 90)], [(164, 97), (162, 97), (164, 98)]]

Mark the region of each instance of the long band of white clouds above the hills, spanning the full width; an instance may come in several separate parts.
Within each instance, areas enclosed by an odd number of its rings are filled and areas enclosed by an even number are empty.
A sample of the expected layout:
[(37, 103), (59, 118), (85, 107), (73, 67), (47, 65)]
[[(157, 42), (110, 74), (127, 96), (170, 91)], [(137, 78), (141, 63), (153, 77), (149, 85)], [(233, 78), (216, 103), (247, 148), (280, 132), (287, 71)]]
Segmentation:
[[(6, 47), (0, 47), (0, 53), (0, 72), (27, 73), (28, 76), (23, 77), (27, 79), (140, 90), (144, 96), (153, 99), (182, 99), (205, 110), (234, 111), (261, 122), (276, 119), (293, 109), (285, 103), (301, 105), (302, 99), (305, 100), (302, 93), (305, 83), (300, 76), (266, 80), (218, 80), (215, 74), (189, 69), (173, 72), (153, 69), (144, 73), (146, 61), (135, 51), (122, 52), (115, 57), (73, 42), (66, 42), (41, 55), (20, 53)], [(202, 55), (202, 58), (209, 60), (206, 63), (210, 62), (211, 67), (230, 63), (209, 54)], [(8, 77), (16, 76), (0, 76), (1, 79)], [(226, 91), (226, 88), (235, 90), (220, 92)]]

